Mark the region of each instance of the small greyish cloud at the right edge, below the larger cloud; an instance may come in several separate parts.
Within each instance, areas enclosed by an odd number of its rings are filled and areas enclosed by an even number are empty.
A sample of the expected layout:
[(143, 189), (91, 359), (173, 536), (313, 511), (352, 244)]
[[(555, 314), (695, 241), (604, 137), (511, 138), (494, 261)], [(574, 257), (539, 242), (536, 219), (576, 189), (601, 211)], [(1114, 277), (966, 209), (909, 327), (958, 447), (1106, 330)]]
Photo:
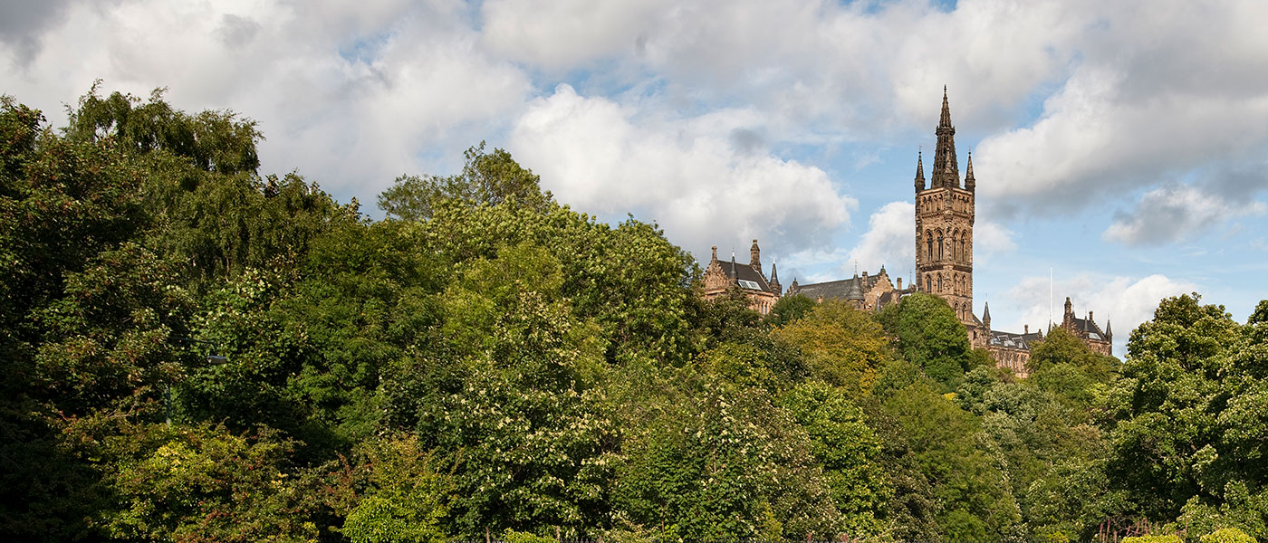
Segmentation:
[(1264, 209), (1262, 203), (1229, 201), (1192, 186), (1163, 186), (1146, 192), (1130, 214), (1120, 213), (1102, 238), (1129, 246), (1169, 243)]

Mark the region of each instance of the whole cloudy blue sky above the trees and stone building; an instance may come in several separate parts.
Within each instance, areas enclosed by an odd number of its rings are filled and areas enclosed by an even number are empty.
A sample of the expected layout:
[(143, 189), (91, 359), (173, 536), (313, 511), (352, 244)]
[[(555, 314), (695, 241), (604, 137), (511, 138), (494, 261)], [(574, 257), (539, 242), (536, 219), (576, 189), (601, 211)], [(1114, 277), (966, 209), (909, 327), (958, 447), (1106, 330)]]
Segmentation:
[(0, 0), (0, 94), (61, 127), (95, 80), (165, 87), (256, 120), (261, 173), (375, 218), (397, 176), (486, 140), (573, 209), (654, 222), (701, 265), (756, 238), (805, 284), (910, 281), (946, 86), (974, 313), (1021, 332), (1069, 296), (1122, 356), (1164, 296), (1238, 320), (1268, 297), (1265, 20), (1262, 0)]

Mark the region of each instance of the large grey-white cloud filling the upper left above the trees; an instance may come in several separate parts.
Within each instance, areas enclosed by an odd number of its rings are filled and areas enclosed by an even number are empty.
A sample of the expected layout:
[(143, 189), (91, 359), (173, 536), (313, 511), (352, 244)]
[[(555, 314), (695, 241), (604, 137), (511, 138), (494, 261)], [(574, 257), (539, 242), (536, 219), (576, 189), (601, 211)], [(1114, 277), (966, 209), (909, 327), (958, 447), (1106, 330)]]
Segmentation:
[[(254, 118), (268, 138), (264, 171), (299, 168), (345, 199), (373, 199), (402, 172), (460, 156), (503, 128), (531, 91), (520, 67), (483, 52), (459, 3), (133, 1), (63, 11), (44, 24), (29, 62), (4, 76), (5, 92), (60, 123), (60, 103), (95, 78), (142, 96), (167, 87), (178, 108)], [(16, 67), (22, 54), (3, 47), (0, 62)]]

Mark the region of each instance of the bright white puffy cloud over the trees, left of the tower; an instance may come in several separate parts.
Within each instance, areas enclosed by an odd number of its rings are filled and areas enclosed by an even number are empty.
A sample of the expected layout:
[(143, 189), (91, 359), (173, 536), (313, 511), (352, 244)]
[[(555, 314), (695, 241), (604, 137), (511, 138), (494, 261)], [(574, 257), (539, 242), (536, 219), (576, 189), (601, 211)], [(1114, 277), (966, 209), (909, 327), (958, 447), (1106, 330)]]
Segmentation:
[(743, 247), (762, 239), (784, 254), (827, 244), (857, 203), (817, 167), (737, 147), (737, 129), (760, 125), (747, 110), (642, 116), (635, 106), (560, 85), (529, 105), (508, 149), (560, 201), (591, 213), (635, 211), (697, 256), (721, 233)]

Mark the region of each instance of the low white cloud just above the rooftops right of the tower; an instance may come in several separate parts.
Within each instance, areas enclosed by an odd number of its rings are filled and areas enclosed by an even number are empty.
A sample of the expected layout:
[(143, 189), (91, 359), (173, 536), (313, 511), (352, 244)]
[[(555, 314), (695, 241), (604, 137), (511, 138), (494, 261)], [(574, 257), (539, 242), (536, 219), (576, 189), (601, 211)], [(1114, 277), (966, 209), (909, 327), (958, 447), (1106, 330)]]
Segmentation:
[[(1123, 346), (1140, 323), (1154, 315), (1158, 303), (1167, 296), (1193, 292), (1198, 286), (1167, 277), (1150, 275), (1146, 277), (1103, 276), (1078, 273), (1055, 277), (1052, 299), (1049, 305), (1049, 278), (1025, 277), (1004, 292), (1003, 300), (995, 299), (994, 315), (1019, 315), (1011, 321), (993, 321), (992, 328), (1022, 332), (1028, 324), (1031, 332), (1046, 329), (1049, 315), (1055, 324), (1061, 323), (1065, 297), (1070, 297), (1074, 313), (1085, 318), (1093, 311), (1093, 319), (1102, 329), (1113, 325), (1115, 356), (1123, 357)], [(1000, 311), (1003, 309), (1003, 311)]]

